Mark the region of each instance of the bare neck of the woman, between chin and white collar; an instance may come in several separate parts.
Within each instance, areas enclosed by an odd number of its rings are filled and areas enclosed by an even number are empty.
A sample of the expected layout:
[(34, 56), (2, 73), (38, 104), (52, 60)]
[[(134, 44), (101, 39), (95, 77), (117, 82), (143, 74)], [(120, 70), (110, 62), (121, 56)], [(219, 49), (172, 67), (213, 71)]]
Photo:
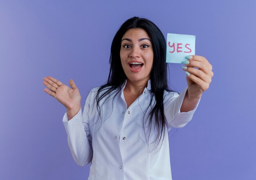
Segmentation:
[(124, 91), (134, 95), (141, 95), (144, 88), (147, 86), (148, 86), (148, 80), (141, 80), (141, 81), (134, 82), (127, 78), (127, 83), (124, 88)]

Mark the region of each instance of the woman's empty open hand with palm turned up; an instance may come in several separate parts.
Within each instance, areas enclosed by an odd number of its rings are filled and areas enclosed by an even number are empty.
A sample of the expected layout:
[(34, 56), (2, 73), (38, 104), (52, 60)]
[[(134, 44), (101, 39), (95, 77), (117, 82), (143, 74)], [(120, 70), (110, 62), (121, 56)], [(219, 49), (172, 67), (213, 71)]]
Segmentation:
[(80, 110), (81, 95), (72, 79), (69, 81), (71, 88), (50, 76), (43, 78), (43, 80), (43, 84), (49, 89), (45, 88), (44, 91), (61, 102), (67, 111), (77, 113)]

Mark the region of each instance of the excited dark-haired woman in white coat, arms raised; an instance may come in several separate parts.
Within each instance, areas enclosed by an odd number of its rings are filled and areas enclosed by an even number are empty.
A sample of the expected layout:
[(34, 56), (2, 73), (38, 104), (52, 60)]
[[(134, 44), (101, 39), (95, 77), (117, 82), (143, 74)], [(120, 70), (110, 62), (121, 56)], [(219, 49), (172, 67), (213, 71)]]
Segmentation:
[(43, 78), (44, 91), (67, 108), (63, 124), (74, 160), (91, 162), (88, 180), (172, 179), (167, 133), (192, 119), (213, 72), (206, 58), (187, 57), (188, 87), (179, 95), (168, 89), (165, 58), (159, 28), (133, 17), (112, 41), (108, 82), (90, 91), (83, 113), (73, 80), (70, 89)]

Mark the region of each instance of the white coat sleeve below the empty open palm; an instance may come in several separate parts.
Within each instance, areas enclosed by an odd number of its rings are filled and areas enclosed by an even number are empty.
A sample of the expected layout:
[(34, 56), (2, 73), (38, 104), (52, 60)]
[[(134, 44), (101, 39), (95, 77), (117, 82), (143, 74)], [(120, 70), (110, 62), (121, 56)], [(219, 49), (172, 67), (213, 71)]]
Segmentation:
[(63, 124), (67, 132), (67, 142), (75, 162), (79, 166), (85, 166), (92, 161), (92, 137), (89, 127), (90, 91), (83, 109), (70, 120), (67, 118), (67, 112), (63, 116)]

